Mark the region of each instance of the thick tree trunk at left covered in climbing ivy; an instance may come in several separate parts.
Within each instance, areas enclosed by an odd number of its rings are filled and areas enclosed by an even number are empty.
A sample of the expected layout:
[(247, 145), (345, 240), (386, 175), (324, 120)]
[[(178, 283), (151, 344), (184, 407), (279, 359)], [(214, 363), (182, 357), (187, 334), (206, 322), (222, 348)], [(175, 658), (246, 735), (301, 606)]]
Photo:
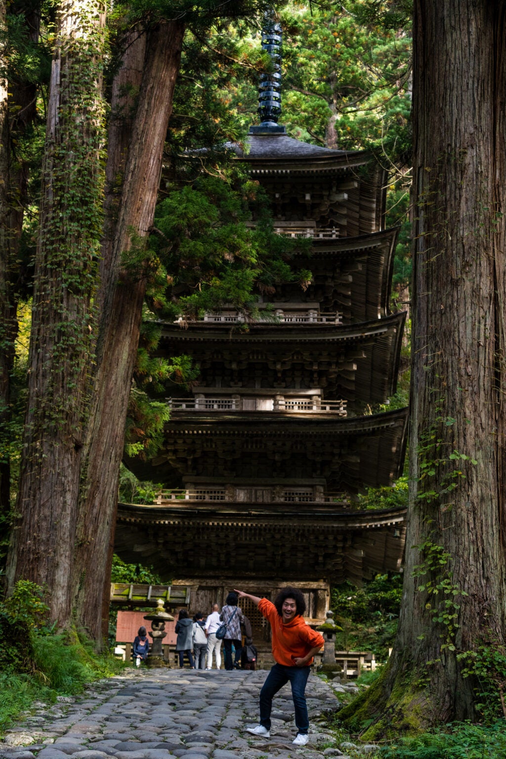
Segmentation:
[(8, 556), (19, 578), (46, 584), (49, 616), (71, 619), (71, 565), (83, 424), (90, 397), (102, 222), (102, 57), (105, 8), (68, 0), (52, 61), (30, 379), (17, 512)]

